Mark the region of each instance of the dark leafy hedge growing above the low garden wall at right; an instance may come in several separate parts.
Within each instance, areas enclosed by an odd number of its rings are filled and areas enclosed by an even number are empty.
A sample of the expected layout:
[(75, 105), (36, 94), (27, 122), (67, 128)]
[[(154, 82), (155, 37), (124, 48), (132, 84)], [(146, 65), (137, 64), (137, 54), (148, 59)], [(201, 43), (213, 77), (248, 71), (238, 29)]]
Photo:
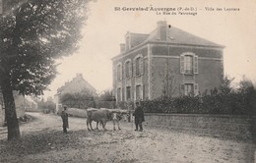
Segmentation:
[[(250, 81), (241, 81), (237, 90), (227, 86), (220, 93), (203, 96), (160, 97), (142, 101), (145, 112), (181, 114), (255, 114), (256, 90)], [(226, 91), (225, 91), (226, 90)], [(212, 91), (213, 92), (213, 91)]]

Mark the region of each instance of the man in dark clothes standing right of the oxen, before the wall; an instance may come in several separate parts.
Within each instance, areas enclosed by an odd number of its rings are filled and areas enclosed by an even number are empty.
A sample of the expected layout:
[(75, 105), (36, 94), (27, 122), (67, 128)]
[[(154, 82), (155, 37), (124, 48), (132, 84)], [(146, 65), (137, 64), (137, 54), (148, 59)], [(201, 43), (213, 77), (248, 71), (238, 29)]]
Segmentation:
[(133, 113), (134, 119), (135, 119), (135, 131), (138, 131), (138, 126), (140, 127), (140, 132), (143, 131), (142, 123), (145, 121), (144, 119), (144, 112), (142, 107), (140, 106), (139, 102), (136, 102), (136, 108)]

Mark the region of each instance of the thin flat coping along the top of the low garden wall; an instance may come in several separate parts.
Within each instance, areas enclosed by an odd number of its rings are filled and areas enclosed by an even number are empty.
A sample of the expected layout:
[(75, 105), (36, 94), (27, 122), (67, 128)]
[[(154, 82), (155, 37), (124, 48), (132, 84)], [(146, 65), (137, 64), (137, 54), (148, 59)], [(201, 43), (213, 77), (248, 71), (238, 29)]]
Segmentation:
[(256, 116), (248, 115), (224, 115), (224, 114), (164, 114), (164, 113), (145, 113), (145, 116), (183, 116), (183, 117), (215, 117), (215, 118), (253, 118)]

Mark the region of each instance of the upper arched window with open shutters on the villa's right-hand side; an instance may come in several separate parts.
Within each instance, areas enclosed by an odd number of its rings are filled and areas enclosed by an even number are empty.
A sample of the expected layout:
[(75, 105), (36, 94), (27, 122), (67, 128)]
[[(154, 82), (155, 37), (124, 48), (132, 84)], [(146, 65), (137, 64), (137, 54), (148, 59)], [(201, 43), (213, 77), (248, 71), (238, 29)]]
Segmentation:
[(198, 56), (194, 53), (183, 53), (180, 56), (181, 74), (198, 74)]

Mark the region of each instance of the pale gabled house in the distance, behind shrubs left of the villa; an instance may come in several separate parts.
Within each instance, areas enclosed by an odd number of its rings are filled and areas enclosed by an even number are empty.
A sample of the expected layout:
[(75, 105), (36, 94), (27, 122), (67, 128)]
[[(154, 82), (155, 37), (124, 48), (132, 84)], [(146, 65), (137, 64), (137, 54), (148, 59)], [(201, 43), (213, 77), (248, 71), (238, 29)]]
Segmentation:
[(63, 86), (57, 89), (57, 94), (54, 96), (56, 112), (58, 112), (62, 106), (60, 102), (62, 95), (66, 93), (75, 94), (81, 92), (86, 92), (90, 96), (96, 96), (96, 88), (92, 86), (88, 81), (86, 81), (82, 74), (77, 74), (77, 76), (73, 78), (72, 81), (65, 82)]

